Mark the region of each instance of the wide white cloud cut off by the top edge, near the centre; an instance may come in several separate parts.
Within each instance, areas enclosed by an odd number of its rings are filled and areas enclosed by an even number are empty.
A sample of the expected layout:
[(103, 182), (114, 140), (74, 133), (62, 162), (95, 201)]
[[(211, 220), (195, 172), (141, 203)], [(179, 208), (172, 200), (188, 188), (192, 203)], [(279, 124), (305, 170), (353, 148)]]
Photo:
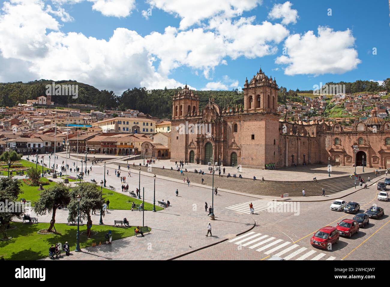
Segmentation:
[(148, 0), (147, 2), (151, 7), (179, 16), (182, 19), (179, 28), (183, 30), (217, 15), (226, 18), (240, 16), (244, 11), (261, 5), (262, 0)]

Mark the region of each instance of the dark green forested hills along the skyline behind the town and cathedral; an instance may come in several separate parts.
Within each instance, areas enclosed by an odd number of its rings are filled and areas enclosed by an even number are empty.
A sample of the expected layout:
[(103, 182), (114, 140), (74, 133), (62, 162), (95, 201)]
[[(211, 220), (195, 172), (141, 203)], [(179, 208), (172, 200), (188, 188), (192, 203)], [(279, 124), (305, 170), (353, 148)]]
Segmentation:
[[(33, 82), (22, 83), (0, 83), (0, 107), (12, 107), (18, 103), (26, 103), (28, 99), (35, 99), (37, 96), (46, 94), (46, 85), (52, 84), (52, 80), (35, 80)], [(158, 118), (171, 118), (172, 116), (172, 97), (179, 92), (182, 87), (176, 89), (155, 89), (146, 90), (145, 88), (128, 89), (118, 96), (113, 91), (99, 91), (93, 86), (83, 84), (72, 80), (57, 81), (56, 84), (77, 84), (78, 98), (73, 99), (71, 96), (55, 96), (52, 100), (55, 103), (66, 105), (69, 103), (92, 104), (97, 105), (99, 109), (112, 109), (125, 111), (134, 109)], [(387, 78), (383, 86), (377, 82), (357, 80), (353, 83), (327, 83), (327, 84), (346, 84), (347, 93), (357, 93), (363, 91), (377, 92), (380, 90), (390, 91), (390, 78)], [(227, 105), (243, 104), (243, 94), (236, 90), (232, 91), (194, 91), (200, 98), (200, 108), (206, 105), (209, 97), (213, 96), (215, 102), (221, 107)], [(301, 101), (302, 97), (298, 93), (312, 93), (310, 91), (289, 90), (280, 86), (278, 93), (278, 102), (285, 103), (286, 100)]]

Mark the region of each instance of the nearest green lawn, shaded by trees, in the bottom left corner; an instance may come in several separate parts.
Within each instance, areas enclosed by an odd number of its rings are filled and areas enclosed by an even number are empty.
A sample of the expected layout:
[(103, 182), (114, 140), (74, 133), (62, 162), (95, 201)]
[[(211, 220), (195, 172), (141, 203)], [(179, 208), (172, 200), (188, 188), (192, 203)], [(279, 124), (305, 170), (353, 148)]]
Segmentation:
[[(4, 257), (6, 260), (37, 260), (48, 257), (49, 247), (51, 244), (58, 242), (64, 244), (67, 241), (69, 242), (70, 250), (76, 248), (77, 226), (56, 223), (55, 228), (57, 229), (57, 234), (41, 235), (37, 234), (37, 231), (48, 228), (49, 223), (23, 224), (12, 222), (12, 225), (17, 226), (17, 228), (7, 232), (7, 235), (11, 236), (12, 239), (0, 241), (0, 258)], [(112, 240), (133, 236), (134, 228), (134, 226), (119, 228), (106, 225), (93, 225), (92, 231), (97, 231), (98, 233), (90, 239), (80, 235), (80, 247), (91, 246), (93, 242), (97, 244), (103, 242), (108, 230), (112, 231)], [(80, 232), (85, 230), (87, 230), (86, 225), (80, 226)], [(94, 248), (99, 248), (99, 246)]]

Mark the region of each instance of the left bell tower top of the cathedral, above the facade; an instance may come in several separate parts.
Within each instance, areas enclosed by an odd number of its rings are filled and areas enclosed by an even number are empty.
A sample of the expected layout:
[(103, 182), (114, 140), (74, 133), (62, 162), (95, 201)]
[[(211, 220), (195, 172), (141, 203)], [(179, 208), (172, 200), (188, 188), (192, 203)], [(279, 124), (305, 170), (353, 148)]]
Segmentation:
[(186, 116), (196, 116), (199, 112), (199, 97), (188, 89), (187, 84), (173, 96), (172, 119), (184, 119)]

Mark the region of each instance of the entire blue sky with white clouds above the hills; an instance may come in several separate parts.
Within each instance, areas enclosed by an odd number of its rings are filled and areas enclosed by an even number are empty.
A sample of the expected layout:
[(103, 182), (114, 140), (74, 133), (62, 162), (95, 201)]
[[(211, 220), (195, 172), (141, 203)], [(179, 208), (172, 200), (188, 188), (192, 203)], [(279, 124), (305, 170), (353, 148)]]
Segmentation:
[(2, 1), (0, 82), (75, 79), (120, 94), (242, 87), (260, 66), (287, 89), (390, 77), (387, 0), (202, 2)]

